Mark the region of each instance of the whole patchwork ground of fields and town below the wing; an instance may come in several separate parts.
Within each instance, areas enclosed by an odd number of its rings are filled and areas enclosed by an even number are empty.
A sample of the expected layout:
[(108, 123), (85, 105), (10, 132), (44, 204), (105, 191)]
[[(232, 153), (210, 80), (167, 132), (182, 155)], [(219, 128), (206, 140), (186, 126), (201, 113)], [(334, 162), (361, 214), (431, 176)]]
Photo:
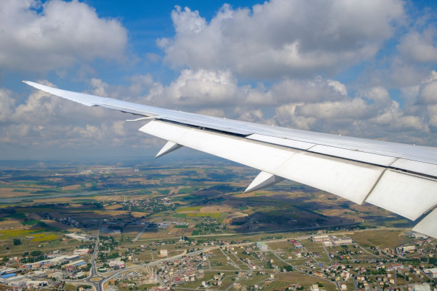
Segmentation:
[(256, 173), (234, 163), (5, 163), (3, 290), (435, 285), (436, 240), (409, 220), (290, 181), (243, 193)]

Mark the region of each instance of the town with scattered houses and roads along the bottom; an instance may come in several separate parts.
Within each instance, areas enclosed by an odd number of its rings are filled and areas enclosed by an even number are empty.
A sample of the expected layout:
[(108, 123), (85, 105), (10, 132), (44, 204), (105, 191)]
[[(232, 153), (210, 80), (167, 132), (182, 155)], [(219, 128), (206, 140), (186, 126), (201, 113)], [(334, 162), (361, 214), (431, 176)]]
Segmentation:
[(181, 237), (136, 244), (102, 235), (99, 245), (94, 245), (96, 237), (71, 233), (67, 239), (85, 240), (85, 245), (72, 252), (4, 257), (0, 282), (12, 290), (82, 286), (92, 279), (95, 263), (94, 276), (105, 290), (434, 290), (436, 241), (405, 235), (411, 240), (408, 245), (380, 247), (360, 245), (339, 232), (290, 238), (282, 234), (259, 241), (251, 236)]

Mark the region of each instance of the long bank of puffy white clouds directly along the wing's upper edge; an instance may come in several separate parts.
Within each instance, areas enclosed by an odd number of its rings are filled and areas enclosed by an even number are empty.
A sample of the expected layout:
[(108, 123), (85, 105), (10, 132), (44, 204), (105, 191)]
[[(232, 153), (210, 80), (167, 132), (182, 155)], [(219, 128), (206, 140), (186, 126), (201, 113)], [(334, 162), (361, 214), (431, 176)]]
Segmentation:
[[(415, 103), (430, 90), (434, 75), (437, 73), (405, 90)], [(429, 126), (437, 123), (431, 116), (437, 107), (413, 104), (401, 108), (383, 86), (363, 88), (350, 96), (345, 84), (321, 76), (309, 80), (283, 78), (266, 87), (263, 83), (239, 85), (230, 71), (202, 69), (183, 70), (168, 86), (150, 75), (130, 80), (130, 85), (110, 86), (108, 91), (119, 91), (119, 96), (135, 93), (141, 96), (131, 101), (209, 116), (392, 141), (436, 142), (432, 136), (419, 137), (428, 135)]]

